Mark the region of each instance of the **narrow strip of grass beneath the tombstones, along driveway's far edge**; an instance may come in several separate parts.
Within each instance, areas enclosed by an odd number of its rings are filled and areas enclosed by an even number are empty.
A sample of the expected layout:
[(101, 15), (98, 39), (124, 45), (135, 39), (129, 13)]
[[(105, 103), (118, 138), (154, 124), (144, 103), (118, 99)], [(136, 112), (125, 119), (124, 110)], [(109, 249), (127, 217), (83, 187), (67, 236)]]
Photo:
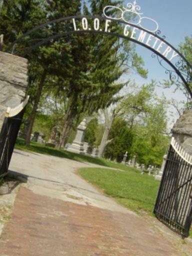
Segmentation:
[[(68, 152), (66, 150), (57, 150), (55, 148), (47, 147), (43, 144), (36, 143), (36, 142), (31, 142), (30, 146), (27, 148), (24, 145), (24, 140), (21, 138), (17, 138), (15, 148), (20, 150), (25, 150), (25, 151), (26, 150), (33, 151), (41, 154), (49, 154), (53, 156), (64, 157), (64, 158), (68, 158), (68, 159), (72, 159), (80, 162), (90, 162), (90, 163), (94, 163), (94, 164), (98, 164), (106, 167), (121, 169), (121, 170), (130, 169), (129, 167), (121, 163), (114, 163), (112, 161), (107, 161), (103, 158), (93, 158), (88, 155), (75, 154), (75, 153)], [(131, 169), (134, 169), (134, 168), (131, 168)]]

